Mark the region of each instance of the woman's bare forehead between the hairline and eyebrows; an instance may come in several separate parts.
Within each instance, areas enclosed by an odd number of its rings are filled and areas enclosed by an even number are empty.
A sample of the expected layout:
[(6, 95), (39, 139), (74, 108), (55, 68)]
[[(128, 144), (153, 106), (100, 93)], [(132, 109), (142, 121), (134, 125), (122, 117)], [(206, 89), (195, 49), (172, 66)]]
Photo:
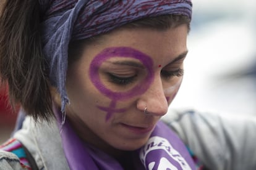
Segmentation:
[(187, 50), (187, 25), (164, 31), (145, 28), (113, 31), (85, 47), (84, 55), (95, 57), (109, 47), (130, 47), (154, 58), (177, 56)]

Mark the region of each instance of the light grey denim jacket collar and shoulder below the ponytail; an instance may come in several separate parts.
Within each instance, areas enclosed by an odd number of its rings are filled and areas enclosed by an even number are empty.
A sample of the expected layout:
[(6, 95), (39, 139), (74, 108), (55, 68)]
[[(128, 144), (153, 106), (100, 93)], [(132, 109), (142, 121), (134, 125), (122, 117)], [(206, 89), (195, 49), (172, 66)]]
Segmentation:
[[(45, 121), (35, 124), (32, 118), (27, 117), (22, 129), (17, 131), (14, 137), (27, 147), (35, 159), (38, 169), (69, 169), (55, 121), (50, 124)], [(12, 160), (17, 160), (17, 156), (0, 151), (0, 170), (22, 169), (18, 161)], [(9, 168), (6, 168), (8, 163)]]

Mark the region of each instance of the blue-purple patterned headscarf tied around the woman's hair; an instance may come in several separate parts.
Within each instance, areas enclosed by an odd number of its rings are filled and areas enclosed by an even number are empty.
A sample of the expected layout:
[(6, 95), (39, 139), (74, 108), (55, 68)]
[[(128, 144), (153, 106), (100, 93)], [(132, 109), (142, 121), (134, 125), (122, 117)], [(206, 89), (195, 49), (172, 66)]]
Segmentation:
[(145, 17), (177, 14), (191, 18), (189, 0), (39, 0), (43, 54), (51, 84), (61, 94), (61, 111), (69, 102), (66, 93), (67, 52), (70, 41), (106, 33)]

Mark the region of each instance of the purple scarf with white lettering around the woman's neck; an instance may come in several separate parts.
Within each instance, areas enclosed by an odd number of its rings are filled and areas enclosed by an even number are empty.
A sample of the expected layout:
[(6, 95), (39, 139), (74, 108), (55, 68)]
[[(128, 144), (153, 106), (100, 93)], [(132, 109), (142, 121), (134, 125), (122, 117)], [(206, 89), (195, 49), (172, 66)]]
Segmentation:
[[(72, 170), (122, 170), (114, 158), (97, 148), (86, 145), (75, 134), (74, 130), (66, 119), (66, 123), (61, 126), (61, 111), (54, 108), (59, 129), (61, 129), (61, 139), (64, 153), (67, 158), (69, 168)], [(181, 139), (174, 134), (168, 126), (159, 121), (153, 130), (150, 139), (144, 147), (134, 151), (135, 169), (196, 169), (186, 146)], [(136, 160), (137, 157), (140, 158)]]

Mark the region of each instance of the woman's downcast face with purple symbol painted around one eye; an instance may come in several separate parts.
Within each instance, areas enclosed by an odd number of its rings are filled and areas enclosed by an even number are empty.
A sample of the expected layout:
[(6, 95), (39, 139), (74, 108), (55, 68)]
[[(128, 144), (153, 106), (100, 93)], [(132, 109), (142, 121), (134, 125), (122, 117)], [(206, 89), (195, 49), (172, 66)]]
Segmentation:
[(142, 147), (179, 89), (186, 39), (181, 25), (123, 29), (88, 44), (67, 72), (66, 113), (79, 136), (103, 150)]

